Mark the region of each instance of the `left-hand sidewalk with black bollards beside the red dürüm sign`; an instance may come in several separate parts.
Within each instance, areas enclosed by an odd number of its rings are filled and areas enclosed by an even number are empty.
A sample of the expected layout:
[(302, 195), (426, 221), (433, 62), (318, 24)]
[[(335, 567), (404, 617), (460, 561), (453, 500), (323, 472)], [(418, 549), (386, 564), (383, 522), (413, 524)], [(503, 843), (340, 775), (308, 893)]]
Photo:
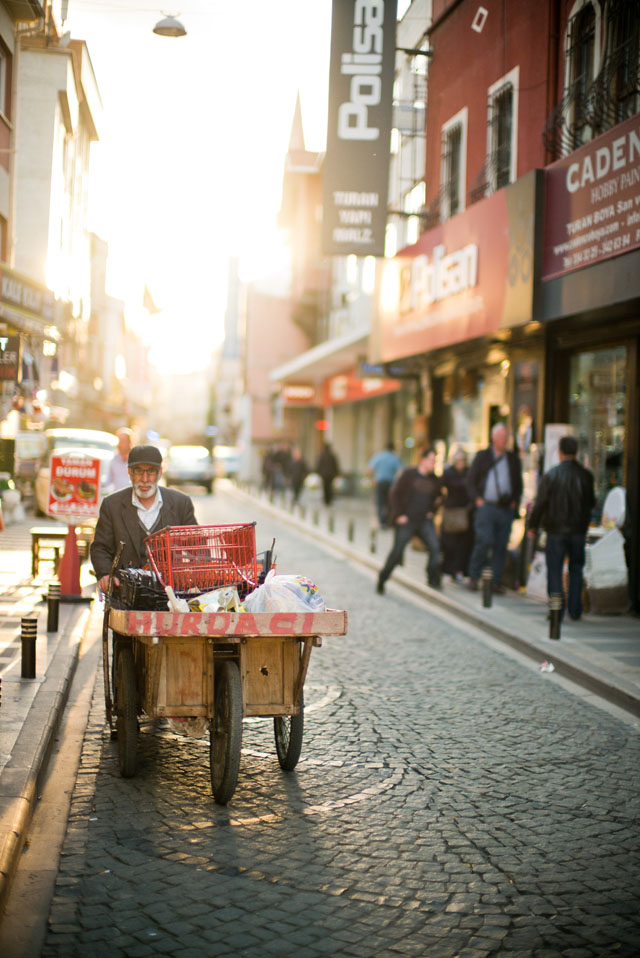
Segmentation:
[[(0, 916), (46, 775), (82, 638), (96, 614), (89, 602), (60, 603), (58, 631), (46, 631), (44, 597), (53, 565), (42, 562), (38, 578), (31, 578), (29, 529), (49, 524), (59, 525), (30, 516), (0, 532)], [(88, 597), (95, 587), (89, 579), (85, 584), (86, 577), (85, 565), (81, 582)], [(38, 619), (35, 679), (21, 677), (23, 616)]]

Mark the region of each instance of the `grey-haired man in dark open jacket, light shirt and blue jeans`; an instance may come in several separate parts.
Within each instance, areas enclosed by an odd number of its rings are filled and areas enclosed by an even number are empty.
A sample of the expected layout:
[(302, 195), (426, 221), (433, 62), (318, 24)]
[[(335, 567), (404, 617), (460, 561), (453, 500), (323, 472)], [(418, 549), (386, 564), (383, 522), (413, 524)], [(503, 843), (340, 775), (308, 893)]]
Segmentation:
[(511, 525), (522, 496), (522, 466), (517, 452), (507, 450), (507, 427), (496, 423), (491, 445), (481, 449), (469, 469), (467, 489), (475, 503), (474, 545), (469, 560), (468, 587), (478, 590), (478, 579), (491, 554), (493, 591), (504, 593), (502, 573)]

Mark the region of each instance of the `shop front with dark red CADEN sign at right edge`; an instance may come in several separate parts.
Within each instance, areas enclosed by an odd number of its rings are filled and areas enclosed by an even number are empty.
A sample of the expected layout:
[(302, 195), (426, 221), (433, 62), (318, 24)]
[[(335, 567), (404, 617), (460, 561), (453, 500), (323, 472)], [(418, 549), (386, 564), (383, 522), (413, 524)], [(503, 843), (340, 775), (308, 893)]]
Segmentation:
[(547, 422), (567, 423), (593, 471), (598, 519), (624, 490), (632, 608), (640, 610), (640, 114), (545, 171), (539, 291)]

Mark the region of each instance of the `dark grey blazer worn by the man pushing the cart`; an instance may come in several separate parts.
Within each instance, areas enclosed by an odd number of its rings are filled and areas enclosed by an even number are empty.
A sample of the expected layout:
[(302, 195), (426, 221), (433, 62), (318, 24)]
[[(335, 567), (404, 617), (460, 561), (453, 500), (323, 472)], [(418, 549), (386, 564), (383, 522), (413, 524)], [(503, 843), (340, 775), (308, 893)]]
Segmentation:
[(100, 506), (96, 534), (91, 543), (91, 562), (96, 577), (109, 575), (113, 558), (120, 542), (124, 549), (119, 569), (140, 569), (148, 563), (144, 540), (150, 532), (157, 532), (166, 526), (195, 526), (197, 520), (193, 511), (193, 502), (184, 492), (177, 489), (161, 488), (162, 508), (152, 530), (144, 528), (138, 518), (138, 510), (131, 501), (131, 486), (106, 496)]

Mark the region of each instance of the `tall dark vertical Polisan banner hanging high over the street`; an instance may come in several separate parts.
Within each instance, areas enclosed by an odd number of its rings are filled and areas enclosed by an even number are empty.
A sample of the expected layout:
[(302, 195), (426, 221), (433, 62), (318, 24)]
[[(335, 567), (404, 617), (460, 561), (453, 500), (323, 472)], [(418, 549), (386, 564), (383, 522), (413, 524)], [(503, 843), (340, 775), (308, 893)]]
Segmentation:
[(383, 256), (396, 0), (333, 0), (323, 250)]

